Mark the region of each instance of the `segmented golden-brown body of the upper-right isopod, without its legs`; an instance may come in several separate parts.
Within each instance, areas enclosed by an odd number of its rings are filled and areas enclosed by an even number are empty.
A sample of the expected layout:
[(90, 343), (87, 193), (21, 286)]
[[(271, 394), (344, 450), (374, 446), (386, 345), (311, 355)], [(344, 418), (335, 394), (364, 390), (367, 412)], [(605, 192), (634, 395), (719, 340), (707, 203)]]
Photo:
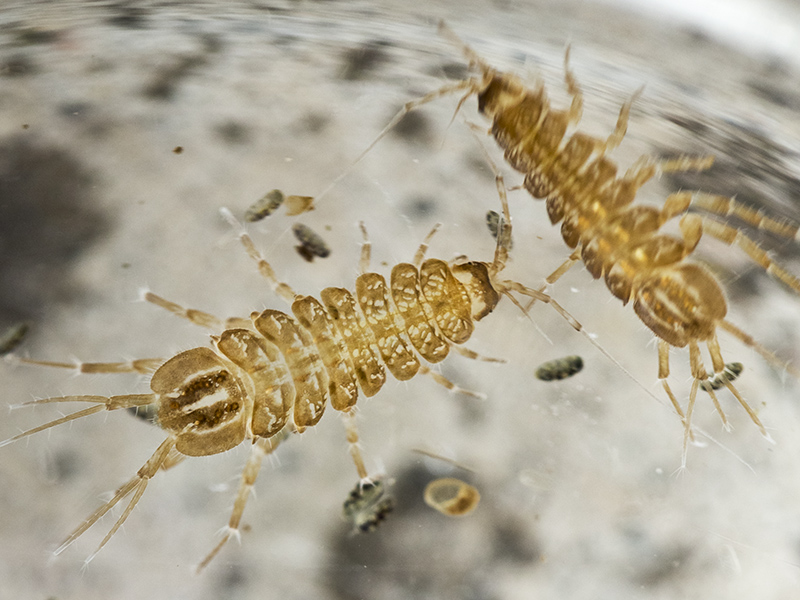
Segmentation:
[(688, 215), (681, 221), (683, 238), (659, 233), (686, 212), (690, 195), (674, 194), (662, 208), (630, 206), (656, 174), (653, 161), (618, 176), (604, 156), (605, 140), (580, 132), (565, 137), (570, 114), (551, 110), (542, 86), (530, 90), (500, 73), (486, 81), (478, 106), (492, 120), (506, 160), (524, 173), (533, 197), (547, 199), (550, 221), (561, 222), (570, 248), (580, 245), (592, 276), (603, 277), (623, 303), (633, 300), (644, 323), (670, 344), (709, 339), (725, 317), (724, 296), (705, 269), (679, 264), (699, 241), (700, 223)]

